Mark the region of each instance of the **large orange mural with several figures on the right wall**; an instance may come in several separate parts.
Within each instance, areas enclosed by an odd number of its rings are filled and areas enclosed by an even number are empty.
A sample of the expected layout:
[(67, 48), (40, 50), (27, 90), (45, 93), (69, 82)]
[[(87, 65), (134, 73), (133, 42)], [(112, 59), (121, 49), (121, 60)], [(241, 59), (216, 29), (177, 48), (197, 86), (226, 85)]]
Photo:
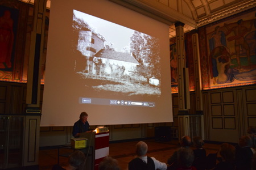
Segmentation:
[(255, 11), (206, 28), (209, 88), (256, 83)]

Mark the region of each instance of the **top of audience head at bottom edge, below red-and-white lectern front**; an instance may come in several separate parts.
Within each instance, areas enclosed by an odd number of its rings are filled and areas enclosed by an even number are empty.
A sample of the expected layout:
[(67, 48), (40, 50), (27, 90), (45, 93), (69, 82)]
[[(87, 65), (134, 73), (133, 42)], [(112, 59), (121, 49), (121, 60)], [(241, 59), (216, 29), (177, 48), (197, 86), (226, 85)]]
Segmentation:
[(99, 170), (120, 170), (118, 161), (108, 156), (104, 158), (98, 165)]

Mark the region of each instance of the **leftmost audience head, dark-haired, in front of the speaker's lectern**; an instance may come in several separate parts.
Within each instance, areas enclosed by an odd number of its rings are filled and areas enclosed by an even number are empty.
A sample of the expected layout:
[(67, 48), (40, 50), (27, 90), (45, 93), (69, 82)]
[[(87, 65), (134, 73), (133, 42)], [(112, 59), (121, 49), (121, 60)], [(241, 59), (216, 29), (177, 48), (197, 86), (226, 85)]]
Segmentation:
[(82, 169), (85, 164), (84, 153), (82, 151), (73, 152), (73, 154), (69, 155), (68, 163), (72, 165), (72, 167)]

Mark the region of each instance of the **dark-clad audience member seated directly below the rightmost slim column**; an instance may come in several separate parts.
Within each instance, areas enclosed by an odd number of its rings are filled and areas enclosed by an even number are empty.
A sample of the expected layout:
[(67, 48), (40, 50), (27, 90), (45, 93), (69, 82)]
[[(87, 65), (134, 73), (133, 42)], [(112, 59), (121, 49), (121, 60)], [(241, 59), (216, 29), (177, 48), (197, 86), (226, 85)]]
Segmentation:
[(193, 137), (193, 145), (196, 147), (196, 149), (193, 150), (195, 156), (193, 166), (196, 167), (197, 170), (204, 170), (207, 162), (206, 151), (203, 148), (204, 141), (201, 137)]

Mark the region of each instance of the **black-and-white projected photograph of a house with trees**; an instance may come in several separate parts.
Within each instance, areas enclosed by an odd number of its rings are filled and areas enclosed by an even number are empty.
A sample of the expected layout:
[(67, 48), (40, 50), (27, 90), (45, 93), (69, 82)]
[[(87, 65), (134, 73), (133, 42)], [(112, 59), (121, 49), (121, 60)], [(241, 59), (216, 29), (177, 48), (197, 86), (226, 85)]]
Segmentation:
[(90, 91), (161, 95), (159, 39), (73, 10), (74, 70)]

